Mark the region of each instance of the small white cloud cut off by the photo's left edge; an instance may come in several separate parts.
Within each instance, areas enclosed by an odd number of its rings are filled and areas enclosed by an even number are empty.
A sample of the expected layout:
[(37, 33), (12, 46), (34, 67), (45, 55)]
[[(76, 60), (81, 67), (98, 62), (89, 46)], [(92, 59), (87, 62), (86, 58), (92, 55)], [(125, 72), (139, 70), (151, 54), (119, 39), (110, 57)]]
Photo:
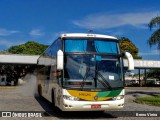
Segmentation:
[(15, 33), (19, 33), (17, 30), (7, 30), (4, 28), (0, 28), (0, 36), (9, 36)]

